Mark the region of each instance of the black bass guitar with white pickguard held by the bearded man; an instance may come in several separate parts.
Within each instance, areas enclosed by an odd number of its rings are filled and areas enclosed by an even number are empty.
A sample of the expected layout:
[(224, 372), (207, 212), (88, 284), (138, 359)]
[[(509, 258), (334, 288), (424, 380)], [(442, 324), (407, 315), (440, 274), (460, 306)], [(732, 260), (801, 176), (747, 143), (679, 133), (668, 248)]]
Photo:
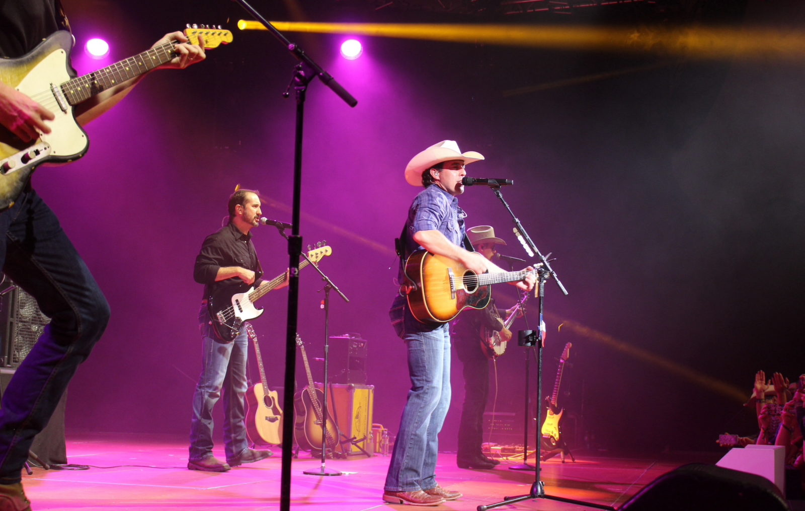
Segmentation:
[[(325, 255), (332, 254), (332, 248), (323, 245), (324, 242), (317, 243), (316, 248), (308, 252), (308, 259), (299, 263), (300, 270), (310, 263), (318, 263)], [(223, 343), (231, 343), (237, 337), (243, 322), (259, 318), (265, 312), (255, 308), (254, 302), (282, 284), (285, 281), (285, 272), (257, 289), (251, 286), (242, 293), (238, 291), (246, 289), (248, 285), (240, 279), (230, 280), (231, 285), (221, 286), (213, 296), (207, 298), (209, 317), (213, 318), (213, 330)]]

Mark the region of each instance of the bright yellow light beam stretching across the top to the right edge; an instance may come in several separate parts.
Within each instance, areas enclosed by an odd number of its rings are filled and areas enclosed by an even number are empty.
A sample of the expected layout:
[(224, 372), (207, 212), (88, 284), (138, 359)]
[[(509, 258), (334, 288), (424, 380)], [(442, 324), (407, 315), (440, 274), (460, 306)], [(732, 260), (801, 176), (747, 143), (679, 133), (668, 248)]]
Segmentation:
[[(308, 23), (272, 21), (280, 31), (373, 35), (464, 44), (524, 48), (659, 53), (701, 59), (798, 59), (805, 56), (805, 33), (729, 27), (547, 27), (539, 25), (447, 25), (416, 23)], [(242, 19), (241, 30), (266, 30)]]

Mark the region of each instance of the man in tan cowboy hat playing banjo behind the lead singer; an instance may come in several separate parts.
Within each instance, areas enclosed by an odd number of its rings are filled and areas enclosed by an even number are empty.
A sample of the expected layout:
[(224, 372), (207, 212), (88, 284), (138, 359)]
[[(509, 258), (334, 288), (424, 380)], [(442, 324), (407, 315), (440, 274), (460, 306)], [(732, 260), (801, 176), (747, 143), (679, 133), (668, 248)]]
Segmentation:
[[(495, 236), (492, 226), (470, 227), (467, 237), (478, 253), (488, 260), (499, 260), (495, 246), (506, 245), (505, 241)], [(506, 316), (511, 312), (507, 310)], [(494, 298), (485, 309), (464, 310), (452, 324), (450, 339), (456, 347), (464, 375), (464, 405), (461, 407), (456, 452), (456, 464), (460, 468), (489, 469), (500, 463), (487, 458), (481, 451), (484, 409), (489, 396), (489, 357), (481, 347), (484, 331), (497, 332), (503, 343), (511, 339), (511, 331), (503, 326)]]

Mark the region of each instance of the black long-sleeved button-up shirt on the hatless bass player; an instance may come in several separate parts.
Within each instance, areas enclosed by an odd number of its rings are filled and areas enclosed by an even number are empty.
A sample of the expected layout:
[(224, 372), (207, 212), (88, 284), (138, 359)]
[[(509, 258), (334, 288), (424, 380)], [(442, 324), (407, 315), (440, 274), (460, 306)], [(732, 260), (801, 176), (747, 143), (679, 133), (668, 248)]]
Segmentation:
[(212, 235), (208, 235), (201, 245), (199, 255), (196, 256), (193, 279), (204, 285), (202, 299), (212, 296), (224, 286), (233, 285), (235, 280), (237, 280), (238, 284), (243, 284), (243, 281), (238, 277), (216, 282), (215, 277), (218, 274), (218, 268), (227, 266), (240, 266), (252, 270), (255, 279), (254, 287), (260, 285), (262, 268), (260, 268), (260, 261), (257, 259), (257, 252), (254, 251), (254, 244), (251, 242), (251, 233), (244, 235), (237, 230), (237, 227), (232, 222), (229, 222), (225, 227), (221, 227), (220, 230)]

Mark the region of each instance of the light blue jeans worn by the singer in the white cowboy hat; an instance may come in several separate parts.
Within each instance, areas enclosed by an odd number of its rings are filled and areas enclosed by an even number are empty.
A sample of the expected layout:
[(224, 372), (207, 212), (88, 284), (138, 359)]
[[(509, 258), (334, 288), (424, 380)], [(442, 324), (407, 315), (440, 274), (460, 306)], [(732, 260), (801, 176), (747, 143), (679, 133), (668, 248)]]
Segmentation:
[(389, 316), (394, 330), (406, 343), (411, 390), (384, 489), (429, 490), (436, 486), (438, 435), (450, 408), (450, 325), (423, 325), (416, 321), (405, 297), (394, 298)]

